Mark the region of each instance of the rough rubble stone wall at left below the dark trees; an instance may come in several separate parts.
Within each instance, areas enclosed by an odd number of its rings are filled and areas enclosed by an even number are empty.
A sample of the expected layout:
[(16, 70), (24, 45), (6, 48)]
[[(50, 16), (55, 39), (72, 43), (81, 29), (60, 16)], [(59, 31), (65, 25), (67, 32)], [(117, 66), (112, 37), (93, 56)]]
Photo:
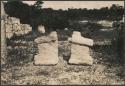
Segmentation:
[(21, 24), (20, 20), (15, 17), (7, 17), (5, 19), (6, 37), (11, 38), (14, 34), (21, 36), (32, 31), (32, 27), (28, 24)]

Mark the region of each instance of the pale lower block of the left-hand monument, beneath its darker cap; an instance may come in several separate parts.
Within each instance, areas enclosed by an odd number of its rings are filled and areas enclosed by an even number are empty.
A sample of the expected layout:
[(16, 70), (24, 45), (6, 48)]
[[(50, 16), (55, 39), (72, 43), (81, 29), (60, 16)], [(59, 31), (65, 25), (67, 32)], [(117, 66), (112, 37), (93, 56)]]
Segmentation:
[(39, 46), (39, 53), (35, 56), (35, 65), (54, 65), (58, 63), (58, 47), (54, 43), (43, 43)]

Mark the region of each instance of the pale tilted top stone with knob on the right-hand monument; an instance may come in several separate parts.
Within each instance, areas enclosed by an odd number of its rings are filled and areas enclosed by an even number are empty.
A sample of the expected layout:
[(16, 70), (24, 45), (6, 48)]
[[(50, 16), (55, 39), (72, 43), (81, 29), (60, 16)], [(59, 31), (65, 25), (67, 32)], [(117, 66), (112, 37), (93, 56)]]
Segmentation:
[(74, 31), (72, 35), (72, 39), (69, 39), (70, 42), (81, 44), (81, 45), (87, 45), (87, 46), (93, 46), (94, 42), (92, 39), (82, 37), (80, 32)]

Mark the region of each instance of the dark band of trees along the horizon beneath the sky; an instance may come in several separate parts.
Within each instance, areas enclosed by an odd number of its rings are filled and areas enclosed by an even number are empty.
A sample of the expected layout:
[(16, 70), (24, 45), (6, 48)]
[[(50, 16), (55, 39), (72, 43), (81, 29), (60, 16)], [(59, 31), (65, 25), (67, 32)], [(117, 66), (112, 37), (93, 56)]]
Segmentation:
[(37, 26), (43, 24), (46, 28), (64, 29), (69, 27), (69, 21), (73, 20), (121, 20), (124, 8), (113, 4), (110, 8), (100, 9), (73, 9), (54, 10), (42, 8), (43, 2), (38, 0), (29, 6), (20, 0), (11, 0), (5, 3), (5, 10), (9, 16), (18, 17), (22, 23), (28, 23), (37, 31)]

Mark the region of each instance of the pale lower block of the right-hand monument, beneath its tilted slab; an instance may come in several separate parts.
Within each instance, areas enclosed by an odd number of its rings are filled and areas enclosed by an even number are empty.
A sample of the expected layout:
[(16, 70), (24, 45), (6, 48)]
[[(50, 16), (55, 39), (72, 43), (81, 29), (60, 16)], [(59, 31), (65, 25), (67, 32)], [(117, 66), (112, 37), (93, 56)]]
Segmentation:
[(70, 64), (92, 65), (93, 58), (90, 56), (89, 47), (71, 44)]

